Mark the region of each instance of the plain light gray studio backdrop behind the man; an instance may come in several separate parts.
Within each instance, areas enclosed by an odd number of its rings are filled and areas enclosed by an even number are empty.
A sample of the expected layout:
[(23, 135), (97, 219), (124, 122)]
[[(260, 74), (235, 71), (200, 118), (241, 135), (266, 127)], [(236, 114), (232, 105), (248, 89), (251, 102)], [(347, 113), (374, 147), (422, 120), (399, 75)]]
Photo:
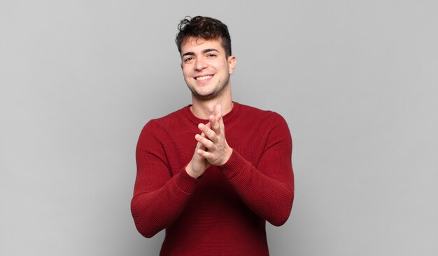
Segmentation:
[(157, 255), (143, 125), (190, 103), (174, 36), (228, 24), (233, 100), (288, 121), (271, 255), (438, 254), (438, 1), (0, 1), (0, 255)]

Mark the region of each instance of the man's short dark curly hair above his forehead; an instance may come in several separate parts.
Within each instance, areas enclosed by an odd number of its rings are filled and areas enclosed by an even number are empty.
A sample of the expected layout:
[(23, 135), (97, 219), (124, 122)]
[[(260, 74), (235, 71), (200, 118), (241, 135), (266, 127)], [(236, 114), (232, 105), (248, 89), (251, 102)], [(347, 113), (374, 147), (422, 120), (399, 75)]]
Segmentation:
[(222, 47), (225, 49), (225, 55), (231, 56), (231, 38), (229, 37), (227, 25), (220, 20), (211, 17), (190, 17), (186, 16), (178, 24), (179, 32), (176, 34), (176, 46), (181, 54), (181, 45), (190, 37), (203, 38), (206, 40), (220, 39)]

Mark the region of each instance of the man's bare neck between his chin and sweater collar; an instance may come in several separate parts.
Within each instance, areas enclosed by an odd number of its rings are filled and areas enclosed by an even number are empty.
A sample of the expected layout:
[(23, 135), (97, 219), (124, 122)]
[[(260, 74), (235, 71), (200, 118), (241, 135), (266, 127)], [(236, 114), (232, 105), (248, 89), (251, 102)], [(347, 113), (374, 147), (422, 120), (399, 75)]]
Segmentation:
[(209, 119), (209, 116), (214, 115), (216, 105), (222, 107), (222, 115), (228, 114), (233, 108), (231, 97), (213, 98), (211, 100), (198, 100), (192, 98), (193, 105), (190, 107), (192, 113), (199, 119)]

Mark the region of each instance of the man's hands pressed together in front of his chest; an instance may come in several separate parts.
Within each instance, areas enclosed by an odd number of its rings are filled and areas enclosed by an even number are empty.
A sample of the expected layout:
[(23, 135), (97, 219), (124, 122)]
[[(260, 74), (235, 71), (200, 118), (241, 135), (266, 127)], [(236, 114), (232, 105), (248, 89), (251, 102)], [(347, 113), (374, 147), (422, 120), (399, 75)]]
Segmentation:
[(211, 165), (220, 166), (227, 163), (232, 148), (225, 140), (225, 126), (222, 119), (222, 108), (216, 105), (214, 115), (209, 116), (209, 123), (199, 123), (201, 134), (195, 135), (197, 146), (186, 171), (192, 177), (199, 177)]

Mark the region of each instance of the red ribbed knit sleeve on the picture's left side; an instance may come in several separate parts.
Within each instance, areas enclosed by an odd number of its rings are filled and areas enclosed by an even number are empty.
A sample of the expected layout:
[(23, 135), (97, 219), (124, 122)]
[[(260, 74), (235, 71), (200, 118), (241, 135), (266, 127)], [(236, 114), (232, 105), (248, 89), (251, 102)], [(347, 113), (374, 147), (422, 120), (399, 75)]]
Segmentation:
[(197, 179), (181, 170), (171, 176), (160, 127), (150, 121), (141, 131), (136, 148), (137, 176), (131, 211), (139, 232), (152, 237), (180, 216), (195, 190)]

